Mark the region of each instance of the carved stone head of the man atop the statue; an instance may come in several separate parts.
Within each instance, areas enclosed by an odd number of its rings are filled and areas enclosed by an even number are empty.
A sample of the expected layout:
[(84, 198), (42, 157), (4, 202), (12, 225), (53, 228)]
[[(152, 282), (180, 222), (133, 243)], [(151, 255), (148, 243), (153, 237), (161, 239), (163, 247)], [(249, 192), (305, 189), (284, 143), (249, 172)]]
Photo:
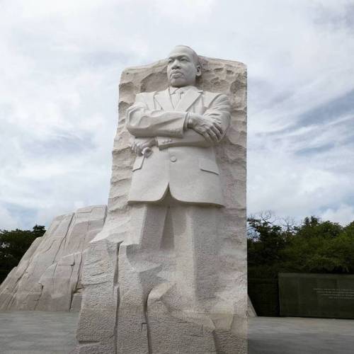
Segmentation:
[(169, 55), (167, 76), (173, 87), (195, 84), (196, 76), (200, 76), (200, 66), (196, 65), (193, 53), (185, 47), (176, 47)]

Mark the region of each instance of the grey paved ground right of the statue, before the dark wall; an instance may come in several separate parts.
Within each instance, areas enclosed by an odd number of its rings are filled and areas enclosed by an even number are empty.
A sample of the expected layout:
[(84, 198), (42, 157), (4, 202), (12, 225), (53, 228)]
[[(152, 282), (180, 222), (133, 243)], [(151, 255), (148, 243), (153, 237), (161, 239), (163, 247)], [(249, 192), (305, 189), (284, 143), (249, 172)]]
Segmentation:
[(249, 319), (249, 354), (353, 354), (354, 320)]

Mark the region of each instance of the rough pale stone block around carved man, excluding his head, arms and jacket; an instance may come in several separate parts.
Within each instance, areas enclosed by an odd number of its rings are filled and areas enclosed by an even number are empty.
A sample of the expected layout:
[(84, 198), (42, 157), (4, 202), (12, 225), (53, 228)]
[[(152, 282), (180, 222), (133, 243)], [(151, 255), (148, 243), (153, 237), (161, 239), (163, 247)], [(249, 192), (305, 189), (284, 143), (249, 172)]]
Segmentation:
[[(222, 59), (200, 57), (200, 61), (202, 77), (197, 86), (227, 94), (232, 105), (227, 135), (215, 147), (226, 205), (205, 223), (215, 228), (215, 237), (203, 239), (202, 227), (191, 230), (189, 240), (197, 253), (185, 257), (183, 264), (181, 254), (191, 249), (188, 240), (176, 238), (185, 225), (173, 224), (167, 212), (158, 249), (142, 252), (137, 244), (135, 228), (151, 208), (144, 211), (144, 205), (127, 204), (135, 155), (125, 112), (137, 93), (166, 89), (166, 61), (125, 69), (108, 216), (102, 232), (89, 244), (83, 270), (77, 353), (247, 352), (246, 67)], [(195, 208), (188, 213), (187, 217), (198, 217), (202, 211)], [(154, 215), (158, 214), (156, 210)], [(178, 206), (173, 215), (178, 215)], [(159, 217), (151, 220), (159, 230)], [(213, 270), (212, 277), (203, 278), (206, 268)]]

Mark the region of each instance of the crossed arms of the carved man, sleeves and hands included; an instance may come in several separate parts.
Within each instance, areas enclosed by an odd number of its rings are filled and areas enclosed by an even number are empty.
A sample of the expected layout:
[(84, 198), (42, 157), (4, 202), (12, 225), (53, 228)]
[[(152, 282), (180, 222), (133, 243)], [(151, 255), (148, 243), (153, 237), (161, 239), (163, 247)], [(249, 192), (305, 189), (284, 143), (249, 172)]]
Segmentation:
[(135, 136), (132, 149), (137, 155), (145, 147), (159, 149), (178, 146), (210, 147), (224, 137), (230, 120), (230, 104), (226, 95), (213, 98), (209, 107), (198, 113), (151, 110), (144, 93), (137, 94), (127, 110), (126, 127)]

